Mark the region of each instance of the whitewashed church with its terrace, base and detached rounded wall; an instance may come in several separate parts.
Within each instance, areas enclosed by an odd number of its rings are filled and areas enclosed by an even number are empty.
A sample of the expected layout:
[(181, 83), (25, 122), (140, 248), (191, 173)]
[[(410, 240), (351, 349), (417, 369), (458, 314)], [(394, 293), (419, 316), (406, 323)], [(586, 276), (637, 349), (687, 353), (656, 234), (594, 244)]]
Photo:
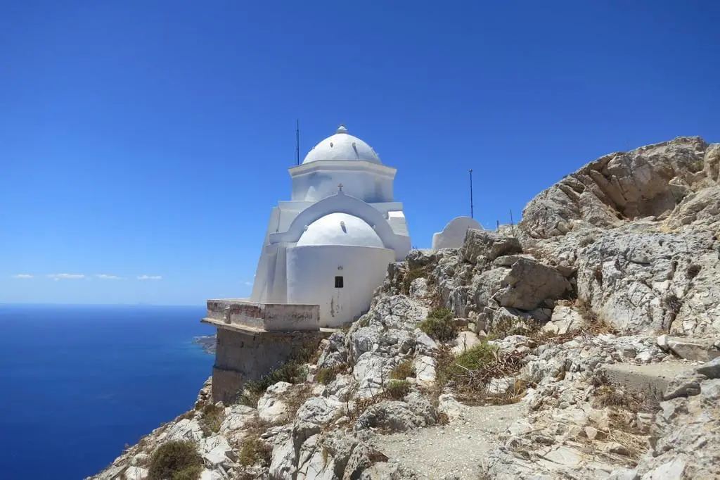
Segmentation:
[[(204, 323), (217, 327), (213, 401), (235, 401), (307, 345), (358, 319), (410, 236), (392, 197), (395, 169), (342, 125), (289, 169), (291, 200), (273, 208), (251, 298), (210, 299)], [(433, 236), (433, 249), (462, 245), (468, 217)]]

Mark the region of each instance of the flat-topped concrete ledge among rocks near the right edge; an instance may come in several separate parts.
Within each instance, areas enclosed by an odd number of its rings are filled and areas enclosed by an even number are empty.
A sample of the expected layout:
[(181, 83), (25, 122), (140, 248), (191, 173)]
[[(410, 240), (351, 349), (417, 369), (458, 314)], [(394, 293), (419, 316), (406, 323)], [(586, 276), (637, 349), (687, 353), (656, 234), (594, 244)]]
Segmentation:
[(684, 363), (652, 363), (650, 365), (613, 363), (603, 367), (603, 373), (610, 383), (629, 391), (660, 398), (672, 378), (686, 370), (692, 370), (692, 367)]

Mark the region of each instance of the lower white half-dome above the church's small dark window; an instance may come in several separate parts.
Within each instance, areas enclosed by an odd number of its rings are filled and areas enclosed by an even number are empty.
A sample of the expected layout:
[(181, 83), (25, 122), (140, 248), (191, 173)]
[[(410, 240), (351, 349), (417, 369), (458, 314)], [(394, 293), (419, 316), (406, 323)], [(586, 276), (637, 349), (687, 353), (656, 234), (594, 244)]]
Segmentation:
[(310, 223), (297, 246), (349, 245), (384, 248), (382, 240), (362, 218), (347, 213), (329, 213)]

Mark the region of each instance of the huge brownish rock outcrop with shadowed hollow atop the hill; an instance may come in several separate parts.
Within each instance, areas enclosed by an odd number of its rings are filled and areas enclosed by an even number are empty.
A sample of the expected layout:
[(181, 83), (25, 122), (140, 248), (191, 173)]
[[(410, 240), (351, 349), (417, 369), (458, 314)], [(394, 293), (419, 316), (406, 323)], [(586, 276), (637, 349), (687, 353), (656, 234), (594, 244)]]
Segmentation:
[(706, 156), (715, 159), (716, 147), (699, 137), (603, 156), (537, 195), (518, 226), (532, 238), (547, 239), (580, 226), (611, 228), (624, 219), (661, 215), (682, 200), (670, 180), (681, 177), (693, 185), (703, 177)]

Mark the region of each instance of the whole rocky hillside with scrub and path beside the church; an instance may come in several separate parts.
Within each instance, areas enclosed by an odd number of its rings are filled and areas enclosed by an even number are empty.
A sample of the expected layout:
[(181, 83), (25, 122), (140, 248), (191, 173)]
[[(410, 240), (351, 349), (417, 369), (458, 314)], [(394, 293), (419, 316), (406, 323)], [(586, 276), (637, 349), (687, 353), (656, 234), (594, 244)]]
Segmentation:
[(719, 166), (700, 138), (590, 162), (92, 478), (720, 478)]

